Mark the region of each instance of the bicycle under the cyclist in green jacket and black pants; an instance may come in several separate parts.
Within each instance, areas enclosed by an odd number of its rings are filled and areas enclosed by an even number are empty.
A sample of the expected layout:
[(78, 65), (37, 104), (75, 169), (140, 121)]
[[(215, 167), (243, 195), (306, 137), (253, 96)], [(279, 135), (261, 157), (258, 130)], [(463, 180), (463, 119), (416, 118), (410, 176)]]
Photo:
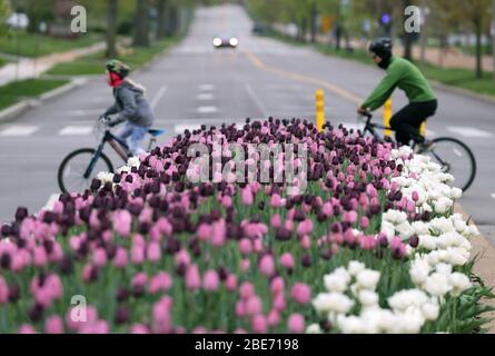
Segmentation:
[[(363, 118), (366, 118), (366, 120), (363, 121)], [(362, 130), (363, 135), (369, 132), (377, 140), (383, 140), (383, 137), (377, 134), (377, 130), (395, 131), (390, 127), (372, 122), (372, 119), (373, 115), (370, 112), (358, 116), (358, 123), (365, 123)], [(425, 141), (425, 139), (420, 137), (420, 139), (414, 140), (413, 149), (419, 155), (430, 156), (435, 162), (442, 166), (444, 172), (455, 177), (456, 186), (459, 186), (464, 191), (473, 185), (476, 177), (476, 159), (473, 151), (463, 141), (453, 137), (438, 137)], [(456, 160), (456, 157), (459, 159)]]

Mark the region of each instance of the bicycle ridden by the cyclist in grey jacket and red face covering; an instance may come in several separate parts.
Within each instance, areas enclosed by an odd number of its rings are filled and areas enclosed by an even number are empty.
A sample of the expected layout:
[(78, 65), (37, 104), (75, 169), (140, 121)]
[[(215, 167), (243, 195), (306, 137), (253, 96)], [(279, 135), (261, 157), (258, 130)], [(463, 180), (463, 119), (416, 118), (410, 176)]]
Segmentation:
[[(111, 134), (108, 121), (98, 120), (95, 125), (95, 134), (97, 138), (101, 136), (99, 146), (95, 148), (81, 148), (69, 154), (60, 164), (58, 170), (58, 184), (62, 192), (79, 191), (80, 188), (89, 189), (93, 178), (101, 171), (115, 172), (113, 165), (106, 154), (103, 148), (109, 144), (117, 155), (127, 164), (128, 159), (132, 157), (129, 151), (129, 146)], [(157, 138), (165, 134), (165, 130), (148, 130), (151, 137), (148, 151), (155, 146)]]

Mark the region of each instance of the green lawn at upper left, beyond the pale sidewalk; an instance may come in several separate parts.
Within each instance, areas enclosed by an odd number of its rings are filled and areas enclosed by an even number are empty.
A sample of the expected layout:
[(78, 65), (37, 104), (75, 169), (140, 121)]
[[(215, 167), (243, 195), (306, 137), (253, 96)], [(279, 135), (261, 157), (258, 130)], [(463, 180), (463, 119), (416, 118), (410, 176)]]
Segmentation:
[(23, 31), (11, 31), (0, 37), (0, 52), (34, 58), (88, 47), (98, 41), (101, 41), (100, 36), (87, 34), (78, 39), (63, 39)]

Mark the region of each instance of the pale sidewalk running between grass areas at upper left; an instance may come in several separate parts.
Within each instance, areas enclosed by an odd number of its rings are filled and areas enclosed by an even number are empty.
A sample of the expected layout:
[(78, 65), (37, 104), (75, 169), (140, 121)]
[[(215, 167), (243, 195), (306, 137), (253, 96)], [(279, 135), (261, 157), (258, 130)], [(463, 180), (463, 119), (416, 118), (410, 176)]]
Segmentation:
[(17, 79), (38, 78), (55, 65), (70, 62), (79, 57), (92, 55), (106, 49), (105, 42), (99, 42), (86, 48), (75, 49), (68, 52), (53, 53), (40, 58), (23, 58), (18, 63), (9, 63), (0, 68), (0, 86), (4, 86)]

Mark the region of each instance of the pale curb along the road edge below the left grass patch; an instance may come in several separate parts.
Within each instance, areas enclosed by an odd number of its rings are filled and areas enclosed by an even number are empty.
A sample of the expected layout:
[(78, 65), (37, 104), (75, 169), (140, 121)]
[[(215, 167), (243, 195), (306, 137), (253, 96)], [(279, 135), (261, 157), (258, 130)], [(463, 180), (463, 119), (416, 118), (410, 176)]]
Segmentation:
[(3, 111), (0, 111), (0, 122), (11, 121), (12, 119), (28, 112), (30, 109), (37, 107), (40, 102), (47, 102), (51, 99), (61, 97), (61, 96), (68, 93), (69, 91), (86, 85), (87, 81), (88, 81), (88, 79), (86, 79), (86, 78), (77, 78), (77, 79), (71, 80), (67, 85), (65, 85), (60, 88), (53, 89), (51, 91), (48, 91), (37, 98), (29, 99), (29, 100), (22, 100), (18, 103), (4, 109)]

